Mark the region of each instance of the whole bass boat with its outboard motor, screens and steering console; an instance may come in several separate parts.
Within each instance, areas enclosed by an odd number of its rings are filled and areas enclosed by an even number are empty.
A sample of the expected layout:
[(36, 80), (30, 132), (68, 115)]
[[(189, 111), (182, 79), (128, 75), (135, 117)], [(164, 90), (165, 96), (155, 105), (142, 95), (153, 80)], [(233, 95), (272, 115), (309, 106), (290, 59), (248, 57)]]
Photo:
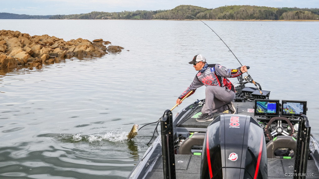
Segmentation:
[(166, 110), (128, 179), (319, 178), (319, 145), (310, 132), (307, 102), (269, 99), (259, 83), (245, 86), (253, 82), (249, 75), (237, 79), (233, 114), (197, 122), (204, 99), (176, 114)]

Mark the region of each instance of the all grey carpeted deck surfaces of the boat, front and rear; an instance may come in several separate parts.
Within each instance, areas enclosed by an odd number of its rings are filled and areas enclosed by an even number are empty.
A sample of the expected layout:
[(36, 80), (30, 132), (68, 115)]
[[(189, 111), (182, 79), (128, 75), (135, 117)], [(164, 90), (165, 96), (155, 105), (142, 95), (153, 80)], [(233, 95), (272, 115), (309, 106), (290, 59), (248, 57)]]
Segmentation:
[[(234, 106), (236, 107), (236, 114), (251, 116), (256, 120), (253, 112), (254, 102), (234, 102)], [(188, 117), (186, 117), (181, 124), (177, 125), (177, 131), (187, 129), (203, 132), (211, 121), (197, 122), (196, 114), (201, 112), (202, 107), (190, 105), (185, 109), (190, 108), (195, 108), (195, 110), (191, 111), (189, 114), (184, 114)], [(214, 114), (214, 118), (217, 118), (219, 115), (221, 114)], [(268, 158), (267, 162), (269, 179), (293, 178), (294, 159)], [(177, 179), (200, 178), (200, 167), (200, 155), (175, 154), (175, 170)], [(319, 178), (319, 172), (314, 160), (308, 160), (307, 173), (303, 175), (307, 178)], [(161, 160), (161, 157), (158, 158), (152, 170), (145, 177), (145, 179), (151, 178), (163, 178), (163, 161)]]

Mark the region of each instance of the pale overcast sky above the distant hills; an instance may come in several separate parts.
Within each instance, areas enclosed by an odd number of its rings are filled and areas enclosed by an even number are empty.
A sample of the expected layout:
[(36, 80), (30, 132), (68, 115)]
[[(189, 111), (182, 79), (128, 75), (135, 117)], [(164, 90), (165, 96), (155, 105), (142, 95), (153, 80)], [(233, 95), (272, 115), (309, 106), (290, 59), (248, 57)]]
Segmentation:
[(225, 5), (319, 8), (319, 0), (0, 0), (0, 12), (69, 15), (92, 11), (169, 10), (179, 5), (217, 8)]

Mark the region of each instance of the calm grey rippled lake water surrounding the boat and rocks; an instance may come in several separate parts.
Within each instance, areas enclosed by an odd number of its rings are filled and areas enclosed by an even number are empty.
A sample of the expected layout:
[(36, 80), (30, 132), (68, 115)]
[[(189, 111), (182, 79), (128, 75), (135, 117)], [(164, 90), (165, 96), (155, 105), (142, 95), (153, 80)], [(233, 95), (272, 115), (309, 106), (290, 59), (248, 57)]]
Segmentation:
[[(308, 101), (318, 139), (319, 22), (204, 22), (271, 99)], [(200, 21), (0, 19), (0, 29), (124, 47), (102, 58), (0, 71), (2, 179), (126, 178), (148, 148), (128, 142), (127, 133), (174, 106), (197, 73), (188, 64), (194, 55), (240, 66)], [(203, 98), (204, 87), (181, 106)]]

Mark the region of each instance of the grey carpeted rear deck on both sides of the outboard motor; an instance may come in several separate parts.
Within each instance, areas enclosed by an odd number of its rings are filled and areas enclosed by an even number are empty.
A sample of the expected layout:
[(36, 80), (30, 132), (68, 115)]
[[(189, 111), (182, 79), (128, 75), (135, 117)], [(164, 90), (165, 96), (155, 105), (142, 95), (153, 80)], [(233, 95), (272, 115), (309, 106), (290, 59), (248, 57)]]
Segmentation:
[[(159, 158), (161, 159), (161, 157)], [(293, 159), (267, 159), (268, 179), (293, 178)], [(175, 155), (176, 179), (200, 178), (201, 156)], [(315, 161), (308, 160), (306, 178), (319, 178)], [(145, 179), (163, 178), (163, 161), (157, 160)]]

